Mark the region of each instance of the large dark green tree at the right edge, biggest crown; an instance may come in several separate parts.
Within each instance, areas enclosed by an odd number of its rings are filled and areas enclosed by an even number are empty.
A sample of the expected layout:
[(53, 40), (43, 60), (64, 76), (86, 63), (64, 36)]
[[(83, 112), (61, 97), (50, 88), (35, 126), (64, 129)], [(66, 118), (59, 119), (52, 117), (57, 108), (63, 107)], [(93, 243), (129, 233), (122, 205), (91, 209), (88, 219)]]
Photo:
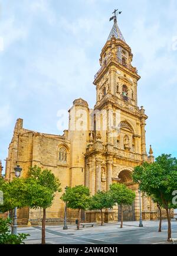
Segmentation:
[(177, 184), (177, 159), (171, 155), (162, 154), (152, 164), (147, 162), (135, 167), (133, 181), (139, 184), (141, 191), (155, 198), (166, 210), (168, 219), (168, 241), (171, 238), (171, 215), (170, 209), (176, 208), (173, 204), (173, 191)]

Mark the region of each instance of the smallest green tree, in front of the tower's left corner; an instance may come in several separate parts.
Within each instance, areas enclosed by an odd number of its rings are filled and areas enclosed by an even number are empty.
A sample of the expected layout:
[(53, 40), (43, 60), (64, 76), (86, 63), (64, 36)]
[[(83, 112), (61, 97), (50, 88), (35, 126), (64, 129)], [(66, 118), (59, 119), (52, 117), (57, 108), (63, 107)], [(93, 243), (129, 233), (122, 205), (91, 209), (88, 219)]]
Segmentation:
[(109, 191), (97, 191), (90, 200), (90, 210), (101, 211), (101, 226), (103, 226), (103, 209), (112, 208), (114, 200)]

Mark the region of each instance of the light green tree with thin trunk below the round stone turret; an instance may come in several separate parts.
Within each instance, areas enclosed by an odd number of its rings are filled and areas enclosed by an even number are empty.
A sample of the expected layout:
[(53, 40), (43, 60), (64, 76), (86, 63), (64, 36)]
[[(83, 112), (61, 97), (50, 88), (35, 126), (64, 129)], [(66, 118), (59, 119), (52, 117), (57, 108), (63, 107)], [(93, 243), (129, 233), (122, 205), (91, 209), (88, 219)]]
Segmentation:
[(78, 209), (77, 229), (80, 226), (80, 210), (89, 208), (90, 191), (89, 188), (83, 185), (76, 185), (76, 187), (68, 187), (61, 200), (67, 202), (67, 206), (71, 209)]

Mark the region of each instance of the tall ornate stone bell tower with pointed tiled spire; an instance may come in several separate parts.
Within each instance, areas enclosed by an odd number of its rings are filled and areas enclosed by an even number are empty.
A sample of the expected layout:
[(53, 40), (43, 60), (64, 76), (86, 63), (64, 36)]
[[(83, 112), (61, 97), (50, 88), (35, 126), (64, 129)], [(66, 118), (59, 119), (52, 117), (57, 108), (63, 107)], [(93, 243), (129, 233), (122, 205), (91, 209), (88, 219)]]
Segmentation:
[[(90, 139), (85, 154), (85, 181), (91, 194), (109, 190), (113, 183), (123, 183), (135, 191), (135, 201), (128, 210), (131, 216), (124, 213), (124, 218), (137, 220), (140, 211), (139, 192), (138, 185), (133, 183), (132, 172), (142, 162), (153, 162), (153, 152), (150, 150), (149, 156), (146, 153), (145, 126), (148, 116), (144, 108), (137, 105), (137, 82), (140, 76), (132, 66), (132, 50), (117, 24), (116, 12), (114, 10), (114, 16), (110, 18), (114, 24), (101, 50), (101, 67), (94, 76), (96, 105), (94, 125), (89, 131)], [(155, 214), (154, 206), (148, 208), (148, 200), (143, 197), (142, 213), (145, 219)], [(117, 219), (119, 212), (116, 213), (114, 209), (114, 214)], [(111, 211), (105, 215), (108, 220), (113, 218)]]

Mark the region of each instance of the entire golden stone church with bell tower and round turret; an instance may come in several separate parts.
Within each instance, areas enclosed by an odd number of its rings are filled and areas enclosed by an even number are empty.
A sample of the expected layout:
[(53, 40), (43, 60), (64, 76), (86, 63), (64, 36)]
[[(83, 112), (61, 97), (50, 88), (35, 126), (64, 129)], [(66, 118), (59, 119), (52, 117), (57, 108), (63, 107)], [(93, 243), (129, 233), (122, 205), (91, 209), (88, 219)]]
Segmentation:
[[(28, 167), (48, 168), (60, 179), (62, 189), (83, 184), (91, 195), (108, 190), (112, 183), (124, 183), (136, 192), (131, 207), (124, 207), (125, 220), (137, 220), (140, 201), (137, 184), (133, 183), (133, 168), (144, 161), (153, 162), (150, 147), (146, 153), (145, 126), (148, 116), (137, 105), (137, 82), (140, 76), (132, 66), (133, 54), (117, 25), (114, 24), (101, 50), (101, 68), (94, 76), (96, 104), (89, 108), (86, 100), (78, 98), (68, 110), (68, 130), (63, 135), (34, 132), (23, 127), (23, 120), (15, 124), (14, 135), (6, 158), (5, 179), (14, 178), (14, 167), (20, 165), (22, 177)], [(35, 127), (34, 127), (35, 128)], [(61, 193), (55, 196), (47, 218), (62, 218), (64, 203)], [(158, 212), (153, 201), (142, 196), (143, 219), (156, 219)], [(117, 206), (105, 210), (104, 221), (119, 218)], [(38, 219), (40, 210), (18, 210), (21, 223)], [(69, 214), (69, 210), (68, 210)], [(82, 213), (83, 214), (83, 213)], [(99, 212), (84, 212), (87, 221), (100, 220)]]

